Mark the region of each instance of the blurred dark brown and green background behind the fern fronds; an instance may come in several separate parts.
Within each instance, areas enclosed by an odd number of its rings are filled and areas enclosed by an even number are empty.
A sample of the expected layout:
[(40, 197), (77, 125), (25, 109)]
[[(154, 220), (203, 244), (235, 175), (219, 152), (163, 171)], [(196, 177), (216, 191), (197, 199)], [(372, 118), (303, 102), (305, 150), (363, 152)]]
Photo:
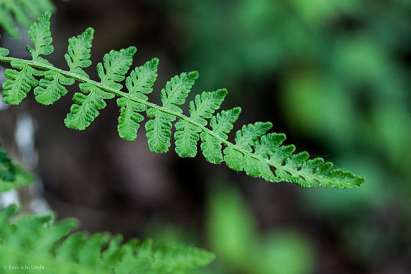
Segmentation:
[[(69, 130), (72, 86), (53, 106), (31, 93), (0, 110), (11, 152), (16, 117), (33, 117), (35, 172), (59, 218), (76, 217), (90, 232), (207, 248), (217, 259), (205, 273), (411, 272), (411, 1), (55, 4), (55, 66), (66, 68), (67, 39), (92, 26), (91, 78), (110, 49), (136, 45), (134, 65), (160, 59), (151, 101), (174, 75), (198, 70), (188, 100), (226, 87), (222, 107), (242, 107), (235, 130), (271, 121), (298, 151), (366, 178), (358, 189), (302, 189), (212, 165), (200, 153), (181, 159), (174, 144), (157, 155), (143, 126), (136, 142), (118, 137), (115, 100), (85, 131)], [(0, 43), (27, 58), (22, 33)]]

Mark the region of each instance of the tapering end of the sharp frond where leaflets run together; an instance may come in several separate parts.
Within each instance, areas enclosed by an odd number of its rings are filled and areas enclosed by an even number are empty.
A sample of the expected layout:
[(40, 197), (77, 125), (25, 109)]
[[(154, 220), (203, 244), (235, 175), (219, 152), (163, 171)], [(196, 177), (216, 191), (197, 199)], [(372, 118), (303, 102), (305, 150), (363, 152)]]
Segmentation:
[[(245, 134), (237, 132), (236, 139), (237, 136), (245, 136)], [(293, 154), (294, 145), (281, 145), (285, 138), (285, 135), (276, 133), (263, 135), (254, 142), (254, 153), (245, 155), (234, 147), (228, 146), (224, 151), (226, 163), (230, 168), (237, 171), (244, 170), (252, 177), (263, 177), (273, 182), (294, 182), (301, 187), (354, 188), (363, 182), (363, 178), (351, 172), (341, 169), (330, 171), (332, 163), (324, 162), (322, 158), (308, 160), (307, 152)], [(249, 142), (246, 143), (250, 145)], [(250, 152), (250, 149), (247, 148), (247, 151)], [(275, 175), (270, 167), (274, 167)]]

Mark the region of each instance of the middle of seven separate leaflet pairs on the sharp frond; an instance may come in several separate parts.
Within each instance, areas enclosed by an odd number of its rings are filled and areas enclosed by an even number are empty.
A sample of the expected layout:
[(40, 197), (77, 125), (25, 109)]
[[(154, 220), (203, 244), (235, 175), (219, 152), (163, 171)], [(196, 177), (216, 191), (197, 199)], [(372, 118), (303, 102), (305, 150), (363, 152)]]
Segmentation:
[[(147, 101), (145, 94), (153, 91), (154, 82), (157, 79), (158, 59), (154, 58), (140, 67), (136, 67), (125, 81), (130, 96)], [(147, 109), (147, 106), (131, 100), (130, 98), (118, 98), (117, 105), (121, 107), (118, 132), (121, 138), (134, 141), (137, 138), (137, 130), (144, 117), (139, 114)]]

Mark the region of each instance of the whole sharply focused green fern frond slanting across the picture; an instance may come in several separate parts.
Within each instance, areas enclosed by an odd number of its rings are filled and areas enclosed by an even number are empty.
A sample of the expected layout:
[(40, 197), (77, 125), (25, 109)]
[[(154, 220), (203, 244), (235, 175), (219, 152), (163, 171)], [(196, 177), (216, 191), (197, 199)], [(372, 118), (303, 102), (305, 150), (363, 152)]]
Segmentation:
[[(207, 161), (225, 161), (235, 171), (245, 171), (252, 177), (262, 177), (270, 182), (288, 181), (302, 187), (353, 188), (364, 181), (364, 178), (351, 172), (331, 170), (332, 163), (322, 158), (309, 159), (307, 152), (294, 154), (294, 145), (282, 144), (286, 139), (284, 134), (267, 133), (272, 127), (270, 122), (244, 125), (236, 132), (234, 143), (228, 141), (228, 133), (233, 129), (240, 108), (234, 107), (213, 116), (227, 95), (226, 89), (197, 95), (190, 102), (189, 116), (184, 115), (180, 105), (185, 103), (198, 78), (197, 71), (183, 72), (167, 82), (161, 90), (161, 106), (151, 103), (146, 96), (152, 92), (157, 78), (156, 58), (133, 69), (126, 78), (128, 93), (122, 92), (120, 82), (132, 65), (135, 47), (111, 50), (105, 54), (103, 63), (97, 65), (100, 82), (90, 80), (83, 68), (91, 64), (89, 58), (94, 32), (91, 28), (69, 40), (65, 59), (70, 70), (54, 67), (39, 57), (52, 51), (48, 20), (49, 13), (45, 13), (30, 28), (30, 39), (35, 47), (28, 47), (28, 50), (33, 60), (7, 57), (7, 50), (0, 50), (0, 61), (11, 62), (14, 68), (20, 69), (6, 70), (9, 79), (3, 84), (3, 100), (6, 103), (20, 103), (31, 87), (35, 87), (36, 100), (50, 104), (67, 93), (64, 85), (79, 81), (83, 93), (73, 96), (74, 104), (65, 119), (67, 127), (84, 130), (99, 115), (99, 110), (106, 106), (104, 100), (118, 96), (120, 137), (130, 141), (136, 139), (140, 123), (144, 120), (141, 113), (145, 111), (152, 118), (145, 123), (145, 129), (148, 147), (153, 152), (169, 150), (173, 122), (177, 120), (175, 150), (181, 157), (194, 157), (200, 141)], [(34, 76), (43, 74), (44, 78), (39, 83)]]

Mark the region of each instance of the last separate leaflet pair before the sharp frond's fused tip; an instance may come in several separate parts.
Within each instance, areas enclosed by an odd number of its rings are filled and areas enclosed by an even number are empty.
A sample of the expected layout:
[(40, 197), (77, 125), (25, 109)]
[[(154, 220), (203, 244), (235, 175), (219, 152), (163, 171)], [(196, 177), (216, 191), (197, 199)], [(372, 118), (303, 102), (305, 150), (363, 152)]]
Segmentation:
[[(227, 134), (233, 129), (233, 123), (237, 121), (240, 115), (241, 108), (234, 107), (229, 111), (222, 111), (217, 113), (216, 116), (211, 117), (210, 126), (212, 132), (223, 140), (227, 140)], [(212, 136), (208, 132), (201, 132), (201, 151), (206, 160), (211, 163), (220, 163), (223, 161), (221, 153), (221, 140)]]

